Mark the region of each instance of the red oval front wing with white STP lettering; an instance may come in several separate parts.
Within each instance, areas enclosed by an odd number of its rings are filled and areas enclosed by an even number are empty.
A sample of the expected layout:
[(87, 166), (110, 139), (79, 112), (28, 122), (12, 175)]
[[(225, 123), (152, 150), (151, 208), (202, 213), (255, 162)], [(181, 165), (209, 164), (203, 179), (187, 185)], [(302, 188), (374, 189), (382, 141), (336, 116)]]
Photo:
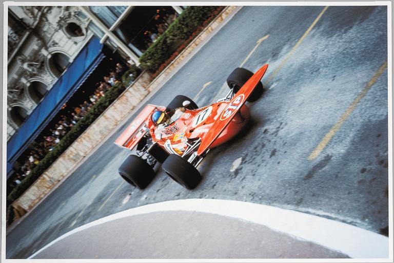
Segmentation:
[(265, 64), (263, 67), (261, 67), (234, 95), (231, 101), (227, 104), (226, 108), (222, 111), (221, 116), (209, 129), (209, 132), (206, 133), (203, 138), (201, 138), (201, 144), (197, 150), (197, 155), (202, 155), (214, 142), (214, 140), (219, 137), (219, 135), (234, 118), (235, 114), (241, 109), (242, 105), (245, 104), (246, 100), (251, 95), (261, 78), (263, 78), (267, 68), (268, 64)]

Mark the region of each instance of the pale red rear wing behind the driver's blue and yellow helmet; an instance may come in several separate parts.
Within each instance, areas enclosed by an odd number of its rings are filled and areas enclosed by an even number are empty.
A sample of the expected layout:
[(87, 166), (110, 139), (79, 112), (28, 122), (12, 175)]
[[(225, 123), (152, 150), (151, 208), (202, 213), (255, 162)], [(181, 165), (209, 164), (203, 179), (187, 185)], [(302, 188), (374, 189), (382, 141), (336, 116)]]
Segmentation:
[(140, 114), (130, 123), (124, 132), (115, 140), (115, 144), (128, 149), (134, 148), (140, 139), (147, 133), (146, 130), (140, 129), (141, 125), (147, 120), (154, 110), (156, 105), (148, 104), (140, 112)]

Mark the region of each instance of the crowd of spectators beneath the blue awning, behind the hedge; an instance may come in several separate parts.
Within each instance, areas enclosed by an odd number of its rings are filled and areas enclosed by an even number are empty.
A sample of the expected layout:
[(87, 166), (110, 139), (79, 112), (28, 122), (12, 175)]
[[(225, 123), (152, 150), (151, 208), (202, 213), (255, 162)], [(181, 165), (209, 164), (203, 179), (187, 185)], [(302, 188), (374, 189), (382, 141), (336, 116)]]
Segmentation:
[[(131, 67), (130, 64), (128, 64)], [(69, 132), (69, 130), (88, 113), (89, 109), (105, 96), (105, 93), (118, 81), (122, 81), (123, 74), (128, 70), (127, 66), (117, 63), (114, 70), (111, 70), (103, 81), (97, 83), (94, 92), (83, 103), (74, 107), (68, 116), (61, 116), (61, 119), (49, 129), (41, 138), (35, 139), (30, 145), (30, 152), (27, 157), (21, 161), (23, 163), (15, 172), (14, 179), (10, 183), (10, 189), (20, 184), (22, 180), (29, 175), (33, 168), (40, 163), (50, 151), (60, 142), (60, 140)]]

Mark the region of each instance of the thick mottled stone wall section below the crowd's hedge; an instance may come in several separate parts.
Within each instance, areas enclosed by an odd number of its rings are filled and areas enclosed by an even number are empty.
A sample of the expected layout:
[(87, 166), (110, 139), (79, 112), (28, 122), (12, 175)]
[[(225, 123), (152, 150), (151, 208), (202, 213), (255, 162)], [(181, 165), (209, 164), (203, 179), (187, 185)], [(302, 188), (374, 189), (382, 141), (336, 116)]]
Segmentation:
[(141, 76), (114, 102), (71, 146), (38, 178), (29, 189), (12, 203), (29, 211), (49, 191), (70, 174), (73, 168), (111, 132), (147, 95), (146, 87), (152, 77), (148, 72)]

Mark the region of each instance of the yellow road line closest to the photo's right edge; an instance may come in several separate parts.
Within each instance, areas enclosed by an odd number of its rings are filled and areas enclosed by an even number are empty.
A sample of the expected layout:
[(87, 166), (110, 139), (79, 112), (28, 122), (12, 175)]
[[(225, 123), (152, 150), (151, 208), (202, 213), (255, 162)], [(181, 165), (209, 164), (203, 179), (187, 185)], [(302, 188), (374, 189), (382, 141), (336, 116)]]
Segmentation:
[(331, 138), (334, 136), (334, 134), (337, 132), (337, 130), (342, 126), (344, 121), (349, 117), (351, 112), (356, 108), (356, 105), (361, 101), (361, 99), (366, 95), (368, 90), (371, 88), (373, 83), (375, 83), (380, 75), (386, 70), (387, 68), (387, 61), (383, 63), (382, 66), (378, 69), (378, 71), (375, 72), (373, 77), (368, 81), (367, 85), (363, 88), (361, 91), (360, 95), (350, 104), (350, 106), (346, 109), (344, 114), (339, 118), (338, 122), (332, 126), (330, 131), (324, 136), (323, 140), (319, 143), (319, 145), (313, 150), (313, 152), (309, 155), (308, 160), (312, 161), (316, 157), (319, 156), (319, 154), (323, 151), (324, 147), (328, 144), (328, 142), (331, 140)]

